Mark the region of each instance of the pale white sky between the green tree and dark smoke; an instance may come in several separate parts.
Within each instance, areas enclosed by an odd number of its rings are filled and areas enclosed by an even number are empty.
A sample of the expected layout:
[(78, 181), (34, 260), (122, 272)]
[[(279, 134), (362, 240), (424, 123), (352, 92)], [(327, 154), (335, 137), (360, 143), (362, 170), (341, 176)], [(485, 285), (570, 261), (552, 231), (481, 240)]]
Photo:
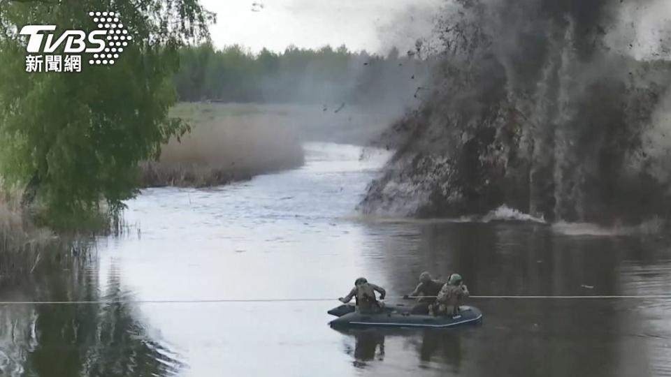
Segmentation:
[[(201, 0), (217, 14), (211, 28), (217, 47), (239, 44), (258, 52), (289, 45), (350, 50), (407, 51), (431, 34), (445, 0)], [(261, 5), (262, 4), (262, 7)]]

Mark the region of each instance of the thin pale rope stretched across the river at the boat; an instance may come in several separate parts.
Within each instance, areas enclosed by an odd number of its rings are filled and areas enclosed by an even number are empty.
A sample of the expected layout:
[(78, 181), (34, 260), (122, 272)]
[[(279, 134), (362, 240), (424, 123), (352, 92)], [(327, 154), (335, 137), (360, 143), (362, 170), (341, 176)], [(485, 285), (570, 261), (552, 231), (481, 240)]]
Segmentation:
[[(434, 296), (422, 296), (433, 298)], [(422, 298), (422, 297), (410, 297)], [(671, 300), (671, 295), (595, 295), (595, 296), (540, 296), (540, 295), (491, 295), (470, 296), (474, 300)], [(386, 297), (402, 300), (402, 296)], [(215, 304), (236, 302), (326, 302), (329, 298), (277, 298), (277, 299), (213, 299), (213, 300), (92, 300), (92, 301), (0, 301), (0, 305), (87, 305), (87, 304)]]

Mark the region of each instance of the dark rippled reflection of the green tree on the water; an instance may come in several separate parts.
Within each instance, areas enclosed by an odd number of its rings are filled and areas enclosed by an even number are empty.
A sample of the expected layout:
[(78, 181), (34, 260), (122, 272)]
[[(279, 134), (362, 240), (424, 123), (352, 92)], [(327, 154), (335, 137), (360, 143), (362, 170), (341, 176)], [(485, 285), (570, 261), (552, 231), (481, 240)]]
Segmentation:
[[(86, 266), (4, 287), (3, 300), (123, 300), (118, 274), (100, 290)], [(60, 267), (60, 271), (56, 268)], [(129, 304), (10, 305), (0, 311), (2, 376), (169, 376), (180, 362), (147, 336)]]

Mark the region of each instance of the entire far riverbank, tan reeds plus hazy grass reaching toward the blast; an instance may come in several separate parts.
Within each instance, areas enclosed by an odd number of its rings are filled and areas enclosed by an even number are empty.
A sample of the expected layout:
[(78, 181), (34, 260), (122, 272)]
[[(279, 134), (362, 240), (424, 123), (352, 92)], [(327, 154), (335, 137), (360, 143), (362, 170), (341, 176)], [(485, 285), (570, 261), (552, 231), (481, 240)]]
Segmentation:
[(304, 142), (367, 145), (391, 117), (345, 104), (178, 103), (191, 132), (140, 165), (144, 187), (208, 187), (303, 165)]

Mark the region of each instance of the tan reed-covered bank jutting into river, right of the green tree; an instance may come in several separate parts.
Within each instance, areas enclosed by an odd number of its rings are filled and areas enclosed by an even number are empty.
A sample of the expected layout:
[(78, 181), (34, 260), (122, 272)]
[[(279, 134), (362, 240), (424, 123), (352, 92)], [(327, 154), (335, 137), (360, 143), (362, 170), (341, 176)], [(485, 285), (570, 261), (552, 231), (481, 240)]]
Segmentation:
[(215, 186), (303, 163), (296, 125), (281, 111), (180, 103), (172, 114), (192, 131), (164, 145), (159, 161), (140, 166), (143, 186)]

